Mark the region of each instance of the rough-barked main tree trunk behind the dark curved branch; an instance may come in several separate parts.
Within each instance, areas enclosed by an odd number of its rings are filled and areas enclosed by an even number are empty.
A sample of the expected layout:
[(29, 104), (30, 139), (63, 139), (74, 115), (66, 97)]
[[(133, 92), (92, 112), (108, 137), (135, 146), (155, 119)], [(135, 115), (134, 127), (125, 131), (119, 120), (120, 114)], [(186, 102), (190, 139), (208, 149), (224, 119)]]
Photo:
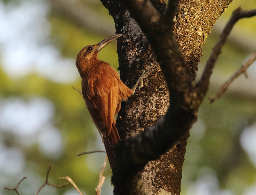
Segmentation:
[[(124, 140), (140, 134), (167, 112), (169, 91), (156, 60), (154, 53), (156, 50), (152, 51), (149, 44), (149, 42), (152, 44), (152, 39), (147, 40), (130, 12), (119, 1), (101, 0), (101, 2), (114, 18), (116, 33), (123, 34), (117, 45), (121, 79), (132, 88), (143, 70), (150, 66), (156, 69), (144, 80), (140, 92), (137, 90), (135, 95), (122, 105), (116, 126), (121, 139)], [(165, 10), (166, 5), (163, 1), (151, 0), (151, 2), (160, 13)], [(196, 77), (204, 42), (229, 3), (230, 0), (180, 0), (172, 30), (193, 80)], [(156, 47), (154, 45), (153, 48)], [(189, 128), (190, 125), (184, 124), (184, 126)], [(182, 164), (188, 135), (186, 131), (169, 151), (157, 160), (148, 162), (136, 176), (132, 175), (130, 179), (132, 182), (125, 183), (127, 178), (115, 178), (121, 181), (120, 185), (123, 183), (123, 186), (115, 186), (115, 193), (121, 194), (123, 190), (122, 194), (180, 194)], [(123, 174), (123, 177), (126, 177), (125, 171)]]

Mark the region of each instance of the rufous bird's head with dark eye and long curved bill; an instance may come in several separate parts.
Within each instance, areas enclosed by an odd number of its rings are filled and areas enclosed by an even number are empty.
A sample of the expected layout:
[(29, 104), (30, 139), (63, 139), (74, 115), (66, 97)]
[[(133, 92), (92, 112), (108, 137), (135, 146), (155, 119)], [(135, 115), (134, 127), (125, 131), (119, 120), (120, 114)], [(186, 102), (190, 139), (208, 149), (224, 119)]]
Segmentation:
[(122, 34), (115, 34), (95, 45), (87, 45), (81, 49), (76, 56), (76, 68), (78, 69), (80, 75), (83, 71), (85, 71), (86, 68), (93, 66), (95, 60), (98, 60), (98, 54), (103, 47), (121, 36)]

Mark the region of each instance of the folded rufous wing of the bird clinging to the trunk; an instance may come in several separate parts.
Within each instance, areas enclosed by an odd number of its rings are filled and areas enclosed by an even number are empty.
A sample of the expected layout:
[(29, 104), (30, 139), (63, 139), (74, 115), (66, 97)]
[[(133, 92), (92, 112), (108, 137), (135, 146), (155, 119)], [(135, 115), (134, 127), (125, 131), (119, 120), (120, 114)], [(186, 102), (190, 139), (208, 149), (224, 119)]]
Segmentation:
[(93, 92), (89, 95), (91, 98), (86, 94), (84, 97), (92, 120), (103, 136), (110, 134), (115, 120), (118, 105), (118, 79), (119, 75), (115, 69), (108, 63), (101, 63), (93, 76)]

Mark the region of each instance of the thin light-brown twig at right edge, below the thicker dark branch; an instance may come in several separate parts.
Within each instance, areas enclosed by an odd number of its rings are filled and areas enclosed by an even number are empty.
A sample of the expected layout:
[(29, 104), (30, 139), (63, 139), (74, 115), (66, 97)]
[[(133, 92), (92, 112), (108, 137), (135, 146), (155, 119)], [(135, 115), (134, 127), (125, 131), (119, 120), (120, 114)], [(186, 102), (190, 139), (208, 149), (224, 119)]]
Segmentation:
[(218, 93), (214, 97), (210, 97), (210, 102), (214, 102), (217, 98), (221, 98), (221, 96), (226, 92), (228, 89), (229, 85), (242, 73), (247, 76), (247, 69), (249, 66), (256, 60), (256, 50), (252, 53), (251, 58), (240, 68), (238, 69), (221, 87)]

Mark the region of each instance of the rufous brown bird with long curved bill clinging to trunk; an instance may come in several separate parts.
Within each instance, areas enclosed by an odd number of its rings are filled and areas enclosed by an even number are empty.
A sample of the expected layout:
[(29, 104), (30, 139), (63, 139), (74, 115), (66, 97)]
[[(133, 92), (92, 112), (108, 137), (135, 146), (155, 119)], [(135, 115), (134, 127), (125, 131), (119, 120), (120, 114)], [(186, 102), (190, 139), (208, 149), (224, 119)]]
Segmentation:
[(120, 141), (115, 115), (121, 108), (121, 101), (134, 94), (140, 81), (146, 77), (146, 75), (140, 76), (135, 86), (129, 89), (109, 63), (98, 59), (100, 50), (120, 36), (122, 34), (116, 34), (98, 44), (87, 45), (76, 57), (76, 67), (82, 78), (82, 95), (103, 139), (111, 169), (115, 166), (115, 154), (112, 148)]

